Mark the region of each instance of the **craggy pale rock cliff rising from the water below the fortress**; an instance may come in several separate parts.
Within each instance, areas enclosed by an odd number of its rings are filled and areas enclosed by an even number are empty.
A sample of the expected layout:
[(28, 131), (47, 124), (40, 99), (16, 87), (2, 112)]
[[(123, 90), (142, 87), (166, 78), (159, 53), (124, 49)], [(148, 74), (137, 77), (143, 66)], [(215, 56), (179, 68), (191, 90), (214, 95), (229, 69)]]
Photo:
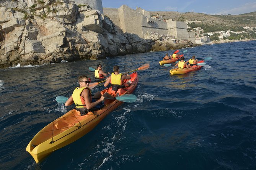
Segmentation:
[(0, 68), (178, 48), (161, 37), (117, 32), (108, 17), (73, 1), (40, 0), (28, 9), (0, 7)]

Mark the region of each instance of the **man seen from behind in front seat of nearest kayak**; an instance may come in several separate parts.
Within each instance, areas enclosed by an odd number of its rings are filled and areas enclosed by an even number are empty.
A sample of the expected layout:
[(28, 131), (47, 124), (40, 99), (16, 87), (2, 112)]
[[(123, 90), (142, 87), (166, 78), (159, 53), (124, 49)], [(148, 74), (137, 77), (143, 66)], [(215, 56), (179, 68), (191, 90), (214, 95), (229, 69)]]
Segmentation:
[(111, 73), (111, 76), (106, 79), (106, 82), (104, 83), (104, 87), (107, 87), (109, 83), (111, 83), (112, 90), (117, 91), (119, 88), (129, 87), (130, 83), (125, 83), (124, 80), (131, 79), (130, 75), (127, 73), (126, 75), (119, 73), (119, 66), (113, 67), (113, 73)]

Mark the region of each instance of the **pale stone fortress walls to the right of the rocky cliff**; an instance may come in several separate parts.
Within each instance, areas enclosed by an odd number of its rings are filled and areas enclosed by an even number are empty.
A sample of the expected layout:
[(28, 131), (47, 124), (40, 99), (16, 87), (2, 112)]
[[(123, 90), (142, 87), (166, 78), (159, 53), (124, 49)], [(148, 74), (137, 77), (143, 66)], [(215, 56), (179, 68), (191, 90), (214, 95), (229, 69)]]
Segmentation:
[(188, 32), (187, 23), (173, 21), (168, 19), (165, 21), (159, 18), (151, 18), (151, 14), (142, 8), (133, 10), (127, 5), (116, 8), (103, 8), (104, 14), (114, 22), (117, 29), (130, 34), (137, 34), (144, 38), (147, 32), (158, 33), (160, 35), (173, 36), (180, 40), (190, 40), (195, 43), (194, 32)]

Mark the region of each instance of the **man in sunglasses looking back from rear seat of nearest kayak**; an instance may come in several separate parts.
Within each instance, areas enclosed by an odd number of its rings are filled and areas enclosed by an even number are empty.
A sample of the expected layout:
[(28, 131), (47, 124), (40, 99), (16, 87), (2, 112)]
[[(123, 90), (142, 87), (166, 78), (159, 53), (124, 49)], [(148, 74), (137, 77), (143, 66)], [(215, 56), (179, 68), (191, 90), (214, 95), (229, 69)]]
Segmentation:
[(103, 96), (98, 91), (95, 93), (93, 98), (100, 98), (100, 99), (93, 99), (91, 97), (91, 90), (89, 88), (89, 79), (86, 75), (81, 75), (78, 78), (79, 87), (75, 88), (73, 91), (72, 96), (68, 98), (65, 103), (65, 106), (70, 106), (71, 104), (75, 103), (76, 109), (78, 109), (81, 115), (84, 115), (88, 112), (89, 109), (99, 110), (104, 107), (104, 98), (105, 97), (112, 97), (108, 93), (104, 93)]

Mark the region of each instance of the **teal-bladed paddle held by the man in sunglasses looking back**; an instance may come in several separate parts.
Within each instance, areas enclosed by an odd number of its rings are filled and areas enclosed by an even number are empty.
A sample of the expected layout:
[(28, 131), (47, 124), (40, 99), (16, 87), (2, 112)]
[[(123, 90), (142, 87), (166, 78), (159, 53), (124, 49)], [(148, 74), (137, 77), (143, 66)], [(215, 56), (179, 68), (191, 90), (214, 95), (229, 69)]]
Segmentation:
[[(95, 98), (95, 99), (100, 99), (100, 98)], [(135, 95), (122, 95), (122, 96), (117, 96), (114, 98), (105, 98), (105, 99), (116, 99), (118, 101), (126, 102), (126, 103), (133, 103), (137, 100), (137, 96)], [(57, 96), (56, 101), (57, 103), (63, 104), (68, 100), (65, 96)]]

